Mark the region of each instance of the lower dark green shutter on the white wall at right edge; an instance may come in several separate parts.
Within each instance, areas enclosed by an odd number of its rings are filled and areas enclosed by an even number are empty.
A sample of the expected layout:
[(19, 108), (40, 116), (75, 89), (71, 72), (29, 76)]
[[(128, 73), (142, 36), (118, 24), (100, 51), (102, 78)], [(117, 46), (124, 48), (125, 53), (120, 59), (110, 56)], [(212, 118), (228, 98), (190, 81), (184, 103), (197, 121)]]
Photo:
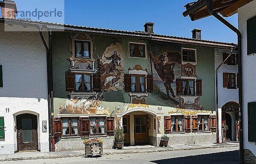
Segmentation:
[(248, 141), (256, 142), (256, 102), (248, 102)]

